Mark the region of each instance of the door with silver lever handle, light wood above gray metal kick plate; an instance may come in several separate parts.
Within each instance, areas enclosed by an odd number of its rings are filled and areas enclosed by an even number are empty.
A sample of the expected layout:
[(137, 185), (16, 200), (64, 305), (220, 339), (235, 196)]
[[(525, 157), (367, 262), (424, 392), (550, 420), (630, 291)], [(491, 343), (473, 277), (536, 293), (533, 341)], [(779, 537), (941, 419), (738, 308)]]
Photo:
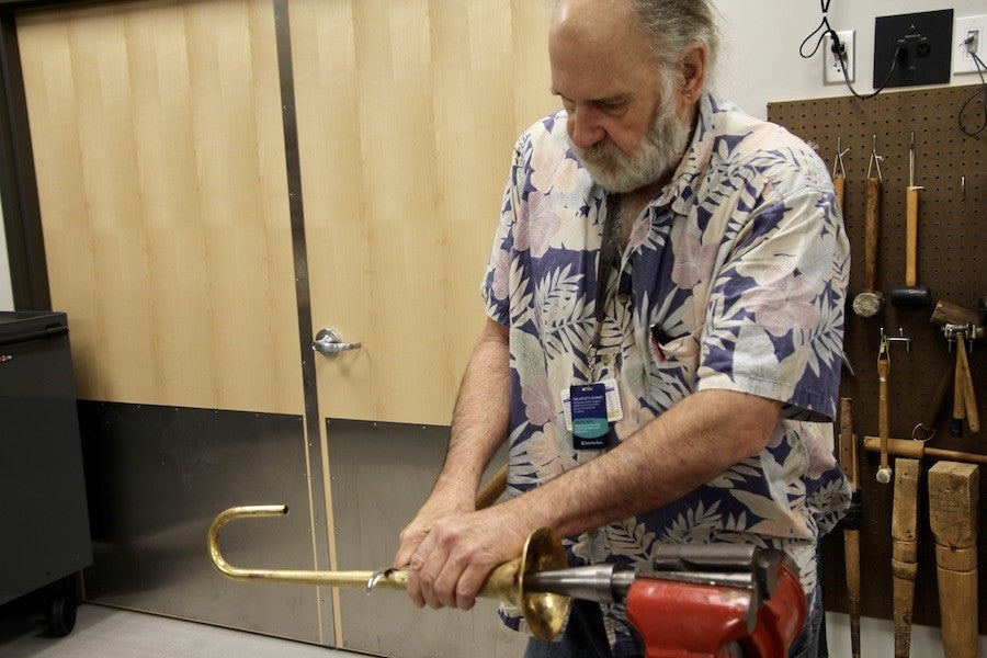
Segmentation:
[[(438, 474), (512, 147), (556, 106), (552, 5), (290, 3), (313, 334), (362, 344), (316, 362), (338, 568), (389, 564)], [(352, 591), (336, 605), (345, 648), (518, 655), (494, 609)]]

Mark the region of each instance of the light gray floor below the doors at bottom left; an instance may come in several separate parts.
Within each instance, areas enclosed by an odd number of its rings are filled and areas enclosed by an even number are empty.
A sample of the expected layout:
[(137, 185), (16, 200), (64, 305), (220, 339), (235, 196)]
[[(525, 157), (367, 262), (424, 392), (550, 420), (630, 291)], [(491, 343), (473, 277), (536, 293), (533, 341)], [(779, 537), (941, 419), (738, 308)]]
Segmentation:
[(345, 658), (361, 656), (253, 633), (83, 603), (66, 637), (47, 634), (39, 614), (0, 616), (0, 658)]

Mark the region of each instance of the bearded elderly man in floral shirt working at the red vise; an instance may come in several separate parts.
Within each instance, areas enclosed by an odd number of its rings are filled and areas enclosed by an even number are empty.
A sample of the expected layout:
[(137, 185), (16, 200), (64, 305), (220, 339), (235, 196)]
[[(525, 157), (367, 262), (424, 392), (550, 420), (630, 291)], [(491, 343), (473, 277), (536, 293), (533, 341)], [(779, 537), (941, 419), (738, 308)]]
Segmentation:
[[(830, 424), (849, 249), (813, 150), (704, 91), (716, 47), (708, 0), (556, 5), (564, 110), (515, 146), (489, 317), (395, 556), (418, 605), (472, 608), (541, 526), (572, 564), (645, 569), (661, 543), (746, 542), (797, 564), (792, 656), (816, 655), (816, 543), (849, 502)], [(504, 439), (509, 499), (476, 511)], [(580, 602), (526, 655), (643, 648), (620, 605)]]

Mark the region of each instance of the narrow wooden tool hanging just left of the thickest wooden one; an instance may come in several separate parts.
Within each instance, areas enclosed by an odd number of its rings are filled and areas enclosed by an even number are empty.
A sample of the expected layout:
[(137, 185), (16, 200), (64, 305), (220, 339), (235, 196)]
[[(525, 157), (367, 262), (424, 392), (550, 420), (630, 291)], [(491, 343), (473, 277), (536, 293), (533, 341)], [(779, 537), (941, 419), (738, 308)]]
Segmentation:
[(911, 608), (918, 574), (918, 460), (895, 460), (895, 498), (892, 511), (892, 576), (894, 577), (895, 658), (908, 658), (911, 648)]

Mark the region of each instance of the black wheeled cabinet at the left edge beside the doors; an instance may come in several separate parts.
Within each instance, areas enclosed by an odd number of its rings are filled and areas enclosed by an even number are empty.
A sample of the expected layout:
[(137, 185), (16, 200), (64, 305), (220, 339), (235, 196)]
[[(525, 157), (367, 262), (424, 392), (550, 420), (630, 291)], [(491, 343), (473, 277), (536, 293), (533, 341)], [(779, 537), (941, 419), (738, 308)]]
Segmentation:
[(0, 603), (53, 588), (48, 624), (71, 631), (59, 583), (92, 564), (92, 546), (63, 313), (0, 311)]

